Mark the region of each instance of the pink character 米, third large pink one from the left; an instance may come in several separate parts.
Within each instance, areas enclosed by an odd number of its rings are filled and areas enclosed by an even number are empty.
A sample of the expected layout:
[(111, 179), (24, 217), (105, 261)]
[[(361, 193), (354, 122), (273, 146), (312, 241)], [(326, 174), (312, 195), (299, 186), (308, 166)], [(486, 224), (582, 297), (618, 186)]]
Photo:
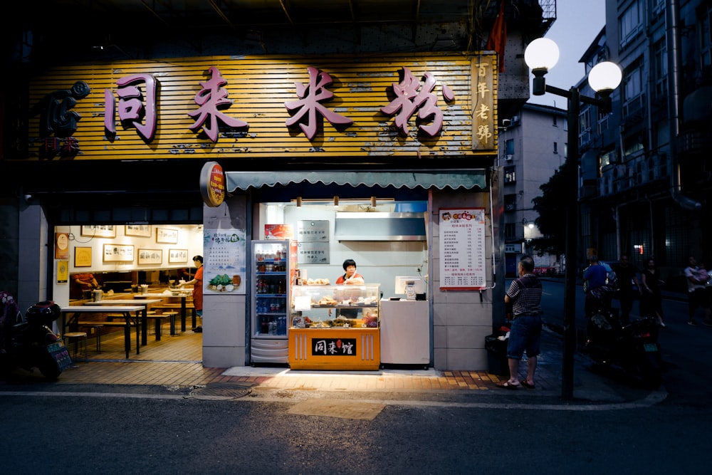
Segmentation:
[(299, 123), (299, 127), (307, 138), (312, 140), (314, 135), (316, 135), (318, 126), (317, 113), (320, 113), (322, 117), (326, 118), (331, 125), (351, 125), (353, 120), (339, 115), (320, 104), (334, 97), (334, 93), (326, 89), (326, 86), (333, 83), (331, 76), (327, 73), (320, 73), (317, 68), (309, 67), (307, 71), (309, 71), (308, 85), (294, 83), (297, 88), (297, 96), (300, 100), (284, 103), (284, 107), (289, 111), (299, 109), (295, 115), (287, 120), (287, 127), (295, 125), (307, 115), (307, 123)]

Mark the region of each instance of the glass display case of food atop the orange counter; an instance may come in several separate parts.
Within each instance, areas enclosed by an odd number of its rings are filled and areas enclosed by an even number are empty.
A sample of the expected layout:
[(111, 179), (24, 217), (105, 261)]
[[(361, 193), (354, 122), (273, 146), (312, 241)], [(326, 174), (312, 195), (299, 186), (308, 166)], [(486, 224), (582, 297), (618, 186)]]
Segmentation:
[(293, 286), (292, 328), (378, 328), (379, 284)]

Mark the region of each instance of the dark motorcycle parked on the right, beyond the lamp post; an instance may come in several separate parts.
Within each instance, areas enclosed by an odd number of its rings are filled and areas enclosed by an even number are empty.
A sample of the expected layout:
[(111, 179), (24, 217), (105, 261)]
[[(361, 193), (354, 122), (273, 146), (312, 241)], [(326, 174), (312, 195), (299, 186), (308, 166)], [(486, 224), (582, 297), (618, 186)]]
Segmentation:
[(598, 365), (622, 371), (646, 389), (662, 383), (662, 358), (658, 326), (650, 317), (622, 325), (617, 313), (593, 313), (588, 317), (585, 349)]

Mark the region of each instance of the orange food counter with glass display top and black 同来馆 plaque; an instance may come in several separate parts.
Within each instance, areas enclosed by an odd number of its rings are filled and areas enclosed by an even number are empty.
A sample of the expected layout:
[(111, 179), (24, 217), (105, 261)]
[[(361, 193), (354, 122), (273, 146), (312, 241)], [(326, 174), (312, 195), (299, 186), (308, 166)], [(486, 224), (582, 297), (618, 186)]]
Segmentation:
[(379, 284), (292, 286), (293, 370), (378, 370)]

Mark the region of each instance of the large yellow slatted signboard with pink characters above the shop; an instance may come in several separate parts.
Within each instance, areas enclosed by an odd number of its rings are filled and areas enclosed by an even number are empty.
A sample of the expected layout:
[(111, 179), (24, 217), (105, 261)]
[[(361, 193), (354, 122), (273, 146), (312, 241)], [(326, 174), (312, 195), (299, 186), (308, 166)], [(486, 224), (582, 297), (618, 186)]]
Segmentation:
[[(38, 75), (28, 108), (42, 113), (29, 120), (23, 160), (417, 156), (446, 168), (449, 156), (496, 153), (492, 54), (205, 61), (73, 64)], [(48, 97), (72, 100), (42, 109)]]

